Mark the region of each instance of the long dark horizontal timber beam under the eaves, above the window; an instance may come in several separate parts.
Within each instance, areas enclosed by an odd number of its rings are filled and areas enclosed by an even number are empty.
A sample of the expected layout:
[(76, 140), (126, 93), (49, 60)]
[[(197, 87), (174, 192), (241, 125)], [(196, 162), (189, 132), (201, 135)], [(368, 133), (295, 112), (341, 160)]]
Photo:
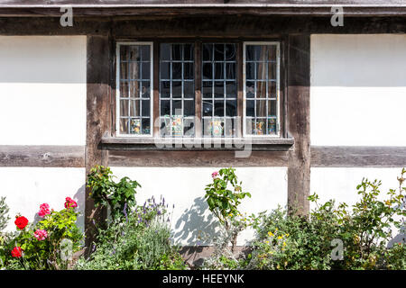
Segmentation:
[[(193, 23), (193, 25), (190, 25)], [(73, 27), (61, 27), (59, 18), (1, 18), (0, 35), (106, 35), (120, 40), (168, 38), (245, 38), (267, 40), (289, 33), (405, 33), (404, 17), (345, 17), (333, 27), (329, 17), (264, 17), (213, 15), (188, 17), (74, 17)]]

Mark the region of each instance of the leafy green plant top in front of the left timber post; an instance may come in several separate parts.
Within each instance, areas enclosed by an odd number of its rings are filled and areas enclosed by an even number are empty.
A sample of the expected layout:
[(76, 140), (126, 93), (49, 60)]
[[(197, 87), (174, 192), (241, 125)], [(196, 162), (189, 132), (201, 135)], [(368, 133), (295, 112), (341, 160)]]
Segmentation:
[(95, 205), (110, 208), (113, 218), (123, 217), (125, 208), (130, 209), (135, 205), (135, 189), (141, 187), (136, 181), (123, 177), (118, 183), (109, 167), (95, 166), (88, 174), (87, 186), (92, 189), (89, 194)]

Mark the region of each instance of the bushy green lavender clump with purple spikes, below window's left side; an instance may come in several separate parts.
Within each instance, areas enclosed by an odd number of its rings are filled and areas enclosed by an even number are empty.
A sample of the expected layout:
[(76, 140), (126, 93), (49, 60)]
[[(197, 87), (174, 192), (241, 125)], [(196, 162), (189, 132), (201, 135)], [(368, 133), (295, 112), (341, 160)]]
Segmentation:
[(185, 269), (178, 247), (171, 245), (171, 229), (164, 200), (149, 199), (100, 229), (94, 252), (78, 260), (78, 269)]

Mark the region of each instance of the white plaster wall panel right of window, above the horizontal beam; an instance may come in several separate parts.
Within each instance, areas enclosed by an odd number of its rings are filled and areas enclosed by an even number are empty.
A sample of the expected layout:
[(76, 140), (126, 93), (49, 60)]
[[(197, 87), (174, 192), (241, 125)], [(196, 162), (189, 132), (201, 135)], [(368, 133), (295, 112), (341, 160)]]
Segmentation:
[(311, 35), (310, 139), (405, 146), (406, 35)]

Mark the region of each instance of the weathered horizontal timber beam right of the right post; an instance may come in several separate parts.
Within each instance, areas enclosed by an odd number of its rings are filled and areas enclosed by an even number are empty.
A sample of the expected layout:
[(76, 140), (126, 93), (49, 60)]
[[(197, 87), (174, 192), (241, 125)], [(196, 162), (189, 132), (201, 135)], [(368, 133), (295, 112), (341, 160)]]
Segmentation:
[(406, 147), (311, 146), (312, 167), (404, 167)]

